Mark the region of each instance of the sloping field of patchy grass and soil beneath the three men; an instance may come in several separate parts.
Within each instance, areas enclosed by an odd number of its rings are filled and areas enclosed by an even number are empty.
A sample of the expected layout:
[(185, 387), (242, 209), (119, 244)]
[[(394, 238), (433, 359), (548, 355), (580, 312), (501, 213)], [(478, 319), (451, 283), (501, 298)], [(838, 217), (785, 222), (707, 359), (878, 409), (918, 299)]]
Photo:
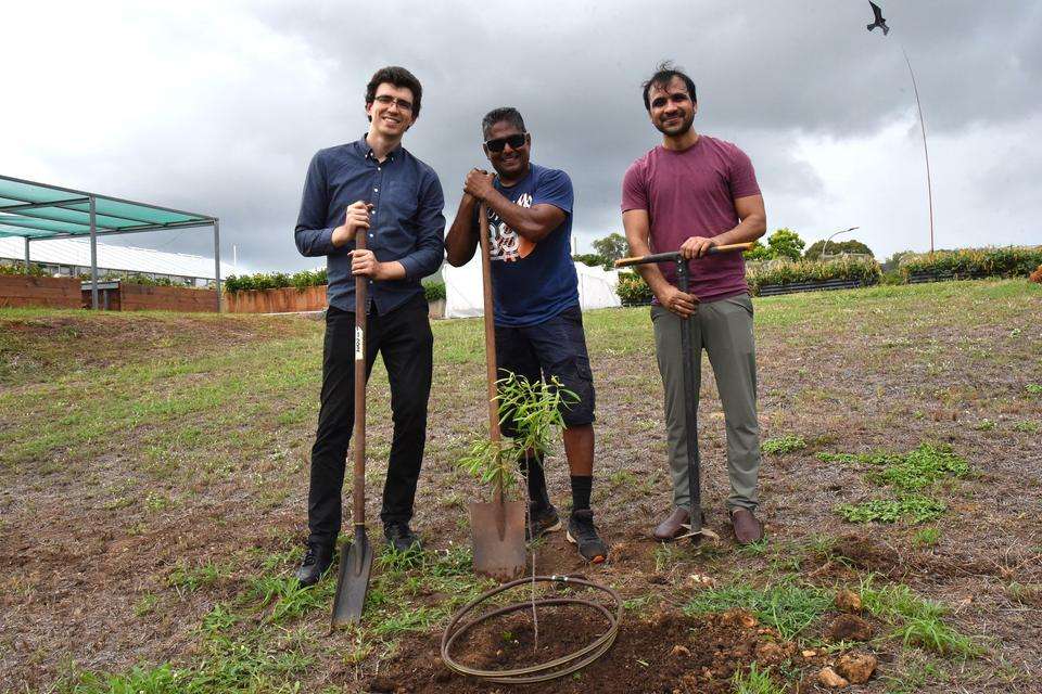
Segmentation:
[[(625, 621), (601, 661), (526, 691), (809, 692), (851, 652), (878, 661), (852, 691), (1039, 692), (1042, 286), (949, 282), (754, 306), (768, 537), (749, 548), (727, 526), (708, 363), (703, 505), (722, 540), (650, 539), (670, 494), (648, 311), (585, 316), (594, 509), (612, 556), (584, 566), (555, 534), (537, 564), (615, 587)], [(333, 581), (302, 591), (291, 578), (320, 322), (0, 310), (0, 691), (494, 691), (449, 676), (435, 647), (447, 616), (488, 587), (469, 570), (466, 509), (479, 488), (455, 465), (484, 425), (480, 330), (434, 325), (415, 522), (428, 551), (379, 556), (363, 628), (330, 635)], [(378, 365), (370, 518), (387, 402)], [(560, 452), (548, 475), (567, 506)], [(860, 616), (837, 606), (846, 590)], [(541, 624), (543, 656), (597, 630), (577, 615)], [(475, 634), (469, 661), (520, 661), (530, 640), (518, 618)]]

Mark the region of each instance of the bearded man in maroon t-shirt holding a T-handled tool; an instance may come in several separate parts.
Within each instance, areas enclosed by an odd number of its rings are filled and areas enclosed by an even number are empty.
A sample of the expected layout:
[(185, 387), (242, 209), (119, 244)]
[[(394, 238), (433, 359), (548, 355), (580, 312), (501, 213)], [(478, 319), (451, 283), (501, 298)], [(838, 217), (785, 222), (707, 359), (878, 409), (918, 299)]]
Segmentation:
[[(741, 254), (707, 257), (707, 252), (715, 245), (762, 236), (766, 231), (763, 197), (752, 163), (741, 150), (691, 128), (698, 102), (690, 77), (663, 63), (644, 83), (644, 105), (651, 125), (662, 133), (662, 144), (634, 162), (623, 180), (626, 241), (635, 256), (679, 249), (689, 260), (691, 277), (690, 293), (685, 294), (676, 287), (672, 266), (637, 266), (655, 294), (651, 320), (665, 389), (673, 477), (673, 512), (653, 535), (671, 540), (690, 519), (679, 346), (683, 321), (692, 317), (696, 387), (701, 381), (704, 348), (727, 425), (727, 509), (735, 537), (748, 544), (763, 537), (763, 526), (755, 517), (760, 428), (752, 301)], [(697, 390), (695, 397), (697, 401)]]

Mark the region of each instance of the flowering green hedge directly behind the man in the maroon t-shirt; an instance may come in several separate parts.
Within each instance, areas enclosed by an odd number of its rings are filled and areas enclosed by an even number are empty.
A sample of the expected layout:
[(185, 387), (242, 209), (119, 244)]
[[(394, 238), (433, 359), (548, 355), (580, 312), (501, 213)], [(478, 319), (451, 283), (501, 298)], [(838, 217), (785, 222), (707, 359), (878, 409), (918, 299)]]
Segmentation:
[[(760, 287), (767, 284), (823, 282), (825, 280), (855, 280), (862, 284), (876, 284), (880, 277), (882, 277), (882, 269), (879, 264), (875, 260), (862, 258), (848, 258), (831, 262), (772, 260), (770, 264), (760, 267), (750, 266), (746, 272), (746, 279), (753, 296), (759, 295)], [(625, 305), (651, 301), (651, 287), (636, 272), (621, 272), (615, 293)]]

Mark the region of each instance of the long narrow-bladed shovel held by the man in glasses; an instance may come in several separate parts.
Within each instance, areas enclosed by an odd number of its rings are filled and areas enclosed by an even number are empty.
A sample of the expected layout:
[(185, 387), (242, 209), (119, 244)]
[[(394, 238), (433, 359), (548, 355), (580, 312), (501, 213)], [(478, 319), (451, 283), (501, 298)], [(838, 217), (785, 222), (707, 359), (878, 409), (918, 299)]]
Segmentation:
[[(366, 248), (365, 231), (355, 235), (355, 247)], [(355, 468), (352, 492), (354, 539), (340, 545), (340, 571), (333, 597), (332, 628), (357, 622), (366, 604), (372, 545), (366, 536), (366, 299), (368, 279), (355, 278)]]

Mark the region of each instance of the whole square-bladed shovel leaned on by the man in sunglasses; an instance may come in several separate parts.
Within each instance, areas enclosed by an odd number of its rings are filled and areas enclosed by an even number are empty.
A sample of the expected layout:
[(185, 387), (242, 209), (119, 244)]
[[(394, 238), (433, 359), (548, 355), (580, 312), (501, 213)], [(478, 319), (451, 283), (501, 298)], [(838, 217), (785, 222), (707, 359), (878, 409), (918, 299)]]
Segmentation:
[[(496, 326), (492, 303), (492, 258), (488, 245), (488, 213), (479, 211), (481, 223), (481, 280), (484, 290), (485, 362), (488, 381), (488, 438), (499, 444), (499, 408), (496, 399)], [(496, 475), (492, 501), (470, 504), (470, 531), (474, 543), (474, 573), (509, 581), (524, 570), (524, 502), (505, 501), (503, 477)]]

